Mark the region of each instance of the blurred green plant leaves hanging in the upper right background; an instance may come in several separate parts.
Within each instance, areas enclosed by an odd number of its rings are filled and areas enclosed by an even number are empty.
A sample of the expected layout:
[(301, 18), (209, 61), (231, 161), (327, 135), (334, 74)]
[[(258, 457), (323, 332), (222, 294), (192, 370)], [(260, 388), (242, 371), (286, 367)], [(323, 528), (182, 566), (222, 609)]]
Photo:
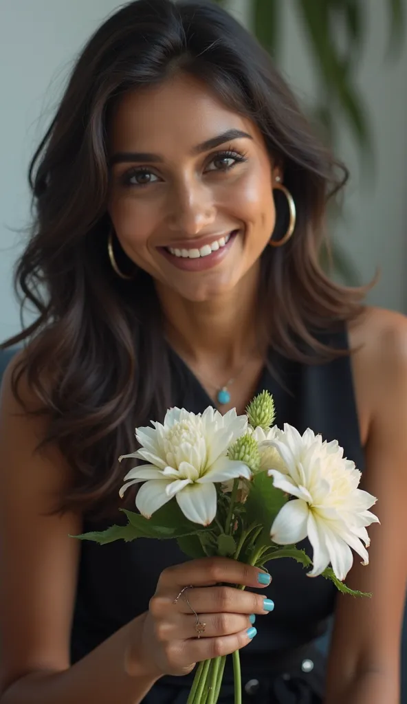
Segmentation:
[[(230, 7), (230, 1), (214, 0)], [(334, 146), (343, 118), (349, 125), (363, 158), (372, 158), (373, 144), (363, 93), (356, 86), (356, 67), (368, 28), (369, 0), (290, 0), (313, 55), (319, 80), (319, 99), (311, 119), (327, 142)], [(284, 0), (248, 0), (251, 29), (278, 63)], [(397, 58), (406, 34), (406, 0), (382, 0), (387, 8), (389, 40), (387, 58)], [(323, 248), (322, 263), (334, 263), (334, 275), (346, 284), (358, 284), (358, 272), (334, 242), (331, 256)]]

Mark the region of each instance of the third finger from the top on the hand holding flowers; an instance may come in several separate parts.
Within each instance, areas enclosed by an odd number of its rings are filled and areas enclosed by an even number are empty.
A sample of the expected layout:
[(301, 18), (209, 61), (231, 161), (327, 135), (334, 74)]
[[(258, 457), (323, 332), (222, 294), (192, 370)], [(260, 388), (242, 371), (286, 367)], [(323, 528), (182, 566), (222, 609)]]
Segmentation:
[(165, 639), (185, 641), (189, 638), (216, 638), (218, 636), (232, 636), (240, 631), (248, 630), (254, 623), (254, 615), (246, 614), (199, 614), (196, 617), (181, 615), (177, 622), (168, 623)]

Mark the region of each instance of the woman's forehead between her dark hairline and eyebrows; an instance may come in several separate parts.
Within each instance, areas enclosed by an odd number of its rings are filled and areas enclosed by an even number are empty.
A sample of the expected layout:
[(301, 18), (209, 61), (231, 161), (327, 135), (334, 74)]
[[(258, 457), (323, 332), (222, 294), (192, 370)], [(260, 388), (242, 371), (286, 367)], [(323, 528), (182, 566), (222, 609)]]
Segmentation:
[(190, 151), (230, 129), (249, 132), (261, 143), (258, 128), (249, 118), (220, 101), (205, 84), (185, 75), (171, 77), (159, 86), (128, 92), (112, 114), (109, 141), (112, 151)]

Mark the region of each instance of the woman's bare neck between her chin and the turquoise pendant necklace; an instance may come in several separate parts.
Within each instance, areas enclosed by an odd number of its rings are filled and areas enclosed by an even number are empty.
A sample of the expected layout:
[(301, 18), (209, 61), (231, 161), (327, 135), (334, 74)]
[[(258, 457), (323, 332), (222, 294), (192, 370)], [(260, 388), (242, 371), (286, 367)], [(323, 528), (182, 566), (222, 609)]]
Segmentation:
[(237, 289), (211, 301), (196, 302), (157, 284), (166, 337), (184, 360), (227, 370), (244, 363), (249, 355), (261, 353), (257, 274), (249, 272)]

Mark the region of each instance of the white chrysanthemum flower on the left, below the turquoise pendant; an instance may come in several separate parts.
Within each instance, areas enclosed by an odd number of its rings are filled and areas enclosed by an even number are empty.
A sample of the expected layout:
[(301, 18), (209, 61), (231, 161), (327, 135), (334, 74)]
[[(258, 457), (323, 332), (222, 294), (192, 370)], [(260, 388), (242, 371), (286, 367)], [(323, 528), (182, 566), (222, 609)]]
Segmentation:
[(246, 432), (246, 416), (238, 416), (234, 408), (225, 415), (211, 407), (199, 415), (172, 408), (163, 425), (152, 425), (136, 429), (142, 448), (123, 455), (148, 464), (126, 474), (120, 496), (132, 484), (145, 482), (137, 492), (136, 505), (146, 518), (175, 496), (189, 520), (210, 524), (217, 509), (215, 483), (251, 477), (247, 465), (226, 456), (229, 446)]

